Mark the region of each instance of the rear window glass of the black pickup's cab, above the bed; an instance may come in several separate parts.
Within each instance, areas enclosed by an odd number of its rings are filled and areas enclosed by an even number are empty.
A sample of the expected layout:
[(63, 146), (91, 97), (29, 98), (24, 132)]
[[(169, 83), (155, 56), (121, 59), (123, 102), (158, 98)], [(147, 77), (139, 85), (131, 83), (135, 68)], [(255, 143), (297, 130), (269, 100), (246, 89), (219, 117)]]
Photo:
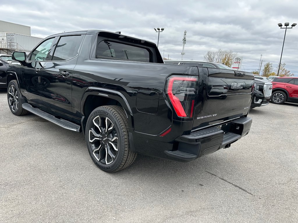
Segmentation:
[(96, 52), (96, 58), (152, 62), (148, 49), (125, 43), (103, 40), (98, 43)]

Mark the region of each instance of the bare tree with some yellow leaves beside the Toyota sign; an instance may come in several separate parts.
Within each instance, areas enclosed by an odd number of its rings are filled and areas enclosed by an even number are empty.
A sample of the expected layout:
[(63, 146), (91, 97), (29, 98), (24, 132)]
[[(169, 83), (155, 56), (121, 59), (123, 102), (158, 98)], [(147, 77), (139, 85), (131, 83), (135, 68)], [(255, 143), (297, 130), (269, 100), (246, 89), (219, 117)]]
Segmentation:
[(207, 62), (221, 63), (231, 67), (235, 56), (237, 56), (237, 53), (232, 50), (219, 49), (218, 51), (208, 51), (204, 55), (204, 59)]

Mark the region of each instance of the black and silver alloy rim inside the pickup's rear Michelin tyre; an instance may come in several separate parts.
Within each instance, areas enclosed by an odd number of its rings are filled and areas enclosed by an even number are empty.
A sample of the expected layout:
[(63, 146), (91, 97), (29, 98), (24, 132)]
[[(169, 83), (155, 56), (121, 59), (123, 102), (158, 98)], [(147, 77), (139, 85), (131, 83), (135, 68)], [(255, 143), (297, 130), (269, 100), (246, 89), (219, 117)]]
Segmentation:
[(118, 154), (118, 134), (112, 121), (98, 115), (89, 130), (89, 143), (94, 158), (102, 164), (111, 164)]

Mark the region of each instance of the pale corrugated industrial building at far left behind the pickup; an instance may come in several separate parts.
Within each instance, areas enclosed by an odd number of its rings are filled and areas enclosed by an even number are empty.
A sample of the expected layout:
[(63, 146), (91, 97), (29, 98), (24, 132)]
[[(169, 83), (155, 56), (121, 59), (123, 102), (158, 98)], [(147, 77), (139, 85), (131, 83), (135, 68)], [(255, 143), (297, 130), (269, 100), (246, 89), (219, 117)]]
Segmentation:
[(42, 38), (31, 36), (30, 26), (0, 20), (0, 54), (31, 51)]

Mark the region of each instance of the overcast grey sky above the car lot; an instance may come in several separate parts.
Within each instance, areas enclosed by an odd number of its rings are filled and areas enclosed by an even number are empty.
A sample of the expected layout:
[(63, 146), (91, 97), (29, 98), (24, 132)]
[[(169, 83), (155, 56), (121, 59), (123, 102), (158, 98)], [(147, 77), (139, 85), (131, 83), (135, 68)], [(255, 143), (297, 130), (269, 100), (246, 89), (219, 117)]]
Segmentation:
[[(31, 35), (82, 29), (121, 31), (150, 40), (164, 57), (181, 59), (182, 39), (187, 31), (183, 59), (203, 60), (207, 51), (232, 50), (243, 56), (242, 70), (263, 65), (277, 67), (285, 29), (277, 23), (298, 23), (298, 4), (283, 1), (1, 1), (1, 20), (31, 26)], [(288, 29), (282, 63), (298, 76), (298, 25)], [(263, 68), (262, 65), (262, 68)]]

